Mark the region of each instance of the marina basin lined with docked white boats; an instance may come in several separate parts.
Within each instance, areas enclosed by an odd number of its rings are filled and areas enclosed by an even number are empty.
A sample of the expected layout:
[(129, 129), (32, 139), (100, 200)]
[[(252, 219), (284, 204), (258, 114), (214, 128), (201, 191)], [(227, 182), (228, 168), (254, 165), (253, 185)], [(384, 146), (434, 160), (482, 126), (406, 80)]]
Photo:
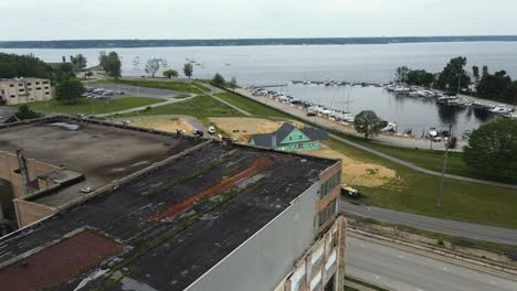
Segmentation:
[(467, 133), (484, 122), (515, 118), (509, 105), (401, 84), (293, 80), (285, 87), (249, 89), (253, 96), (296, 106), (309, 117), (325, 117), (344, 126), (352, 126), (357, 114), (371, 109), (383, 120), (382, 133), (435, 141), (451, 134), (467, 139)]

